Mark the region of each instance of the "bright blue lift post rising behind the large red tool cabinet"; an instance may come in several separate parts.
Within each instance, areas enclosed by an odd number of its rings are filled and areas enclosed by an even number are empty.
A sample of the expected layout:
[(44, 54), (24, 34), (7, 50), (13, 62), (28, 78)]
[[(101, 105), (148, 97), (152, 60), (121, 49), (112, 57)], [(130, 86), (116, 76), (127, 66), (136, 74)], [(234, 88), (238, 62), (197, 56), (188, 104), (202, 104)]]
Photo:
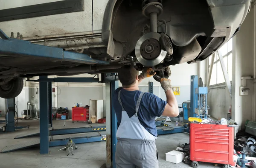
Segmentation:
[(195, 88), (198, 88), (198, 76), (193, 75), (190, 79), (190, 117), (196, 117), (195, 108), (197, 107), (198, 98), (195, 95)]

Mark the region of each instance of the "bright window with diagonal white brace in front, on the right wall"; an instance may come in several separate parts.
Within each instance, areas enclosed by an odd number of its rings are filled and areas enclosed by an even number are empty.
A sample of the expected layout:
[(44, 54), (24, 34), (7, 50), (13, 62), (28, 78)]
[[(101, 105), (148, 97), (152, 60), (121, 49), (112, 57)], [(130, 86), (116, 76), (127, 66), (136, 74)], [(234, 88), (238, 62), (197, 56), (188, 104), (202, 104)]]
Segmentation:
[[(229, 80), (232, 81), (232, 39), (230, 39), (226, 44), (224, 44), (219, 50), (219, 53), (223, 56), (223, 61), (227, 69)], [(209, 67), (212, 61), (212, 56), (209, 56)], [(221, 63), (219, 61), (218, 53), (214, 58), (214, 63), (212, 66), (212, 76), (210, 85), (224, 83), (225, 78), (221, 69)]]

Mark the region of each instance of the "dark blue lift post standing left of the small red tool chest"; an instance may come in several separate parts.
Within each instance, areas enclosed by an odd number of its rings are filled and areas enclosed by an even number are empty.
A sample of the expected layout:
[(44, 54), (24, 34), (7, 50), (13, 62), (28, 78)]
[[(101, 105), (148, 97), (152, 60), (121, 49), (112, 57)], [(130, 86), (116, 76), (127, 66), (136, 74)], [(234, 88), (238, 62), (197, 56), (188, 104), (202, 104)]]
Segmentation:
[[(41, 79), (47, 76), (40, 76)], [(48, 101), (48, 82), (39, 83), (40, 92), (40, 154), (49, 152), (49, 101)]]

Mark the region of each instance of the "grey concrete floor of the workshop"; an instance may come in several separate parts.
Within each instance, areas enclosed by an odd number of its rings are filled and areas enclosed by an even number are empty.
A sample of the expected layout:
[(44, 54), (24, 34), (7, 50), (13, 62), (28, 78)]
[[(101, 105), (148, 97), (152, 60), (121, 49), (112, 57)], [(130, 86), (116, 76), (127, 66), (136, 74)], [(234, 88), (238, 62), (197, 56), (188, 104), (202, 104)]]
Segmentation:
[[(19, 120), (19, 126), (30, 125), (30, 128), (20, 129), (11, 133), (0, 134), (0, 150), (5, 146), (23, 143), (32, 138), (14, 139), (17, 134), (35, 131), (39, 128), (39, 120)], [(63, 120), (54, 120), (53, 127), (60, 129), (63, 127)], [(0, 124), (3, 126), (3, 124)], [(65, 128), (84, 127), (85, 123), (72, 123), (67, 120)], [(189, 135), (186, 133), (160, 135), (156, 141), (159, 153), (159, 168), (189, 168), (184, 163), (173, 164), (166, 162), (165, 153), (175, 150), (179, 143), (189, 143)], [(49, 148), (50, 153), (41, 155), (39, 148), (23, 149), (10, 153), (0, 154), (0, 168), (105, 168), (106, 162), (106, 142), (78, 144), (81, 149), (73, 152), (74, 156), (67, 156), (67, 151), (58, 151), (62, 146)], [(200, 163), (199, 168), (213, 168), (209, 163)]]

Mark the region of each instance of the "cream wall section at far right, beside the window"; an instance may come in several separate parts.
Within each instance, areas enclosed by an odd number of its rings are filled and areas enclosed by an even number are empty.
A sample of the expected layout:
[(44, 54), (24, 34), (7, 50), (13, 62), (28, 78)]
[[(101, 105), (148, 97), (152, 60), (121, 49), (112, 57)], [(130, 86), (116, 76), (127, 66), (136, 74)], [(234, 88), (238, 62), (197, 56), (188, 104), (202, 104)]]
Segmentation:
[(240, 126), (244, 126), (247, 119), (256, 119), (255, 81), (246, 81), (247, 87), (250, 88), (249, 95), (239, 95), (239, 87), (242, 86), (241, 77), (254, 76), (255, 78), (255, 31), (256, 7), (254, 5), (241, 25), (241, 31), (233, 40), (232, 118)]

